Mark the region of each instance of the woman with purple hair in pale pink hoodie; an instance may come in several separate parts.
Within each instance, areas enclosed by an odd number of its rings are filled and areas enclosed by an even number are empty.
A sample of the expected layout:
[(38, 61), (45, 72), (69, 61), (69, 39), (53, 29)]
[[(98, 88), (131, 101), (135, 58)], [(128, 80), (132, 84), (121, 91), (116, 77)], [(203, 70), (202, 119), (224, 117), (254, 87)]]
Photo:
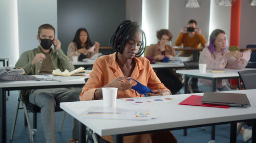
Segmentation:
[[(226, 33), (216, 29), (212, 31), (209, 38), (209, 46), (204, 48), (199, 56), (199, 63), (206, 64), (207, 69), (222, 70), (245, 68), (250, 59), (251, 49), (240, 52), (238, 50), (229, 51)], [(226, 79), (217, 79), (216, 91), (230, 91), (226, 85)], [(202, 92), (212, 92), (212, 81), (208, 79), (198, 79), (198, 90)], [(240, 133), (244, 141), (251, 138), (251, 130), (242, 128)]]

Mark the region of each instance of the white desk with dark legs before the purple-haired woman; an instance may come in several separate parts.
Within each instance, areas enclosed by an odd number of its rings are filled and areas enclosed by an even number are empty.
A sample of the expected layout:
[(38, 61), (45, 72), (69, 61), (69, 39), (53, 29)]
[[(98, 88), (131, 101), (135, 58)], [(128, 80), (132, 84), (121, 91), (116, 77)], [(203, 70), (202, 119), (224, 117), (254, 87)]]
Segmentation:
[(212, 73), (209, 70), (206, 70), (206, 73), (200, 73), (199, 70), (177, 70), (176, 73), (184, 74), (184, 93), (187, 93), (187, 78), (204, 78), (212, 80), (212, 91), (216, 91), (216, 79), (230, 79), (230, 78), (239, 78), (238, 71), (242, 70), (253, 70), (252, 68), (244, 69), (225, 69), (225, 73)]

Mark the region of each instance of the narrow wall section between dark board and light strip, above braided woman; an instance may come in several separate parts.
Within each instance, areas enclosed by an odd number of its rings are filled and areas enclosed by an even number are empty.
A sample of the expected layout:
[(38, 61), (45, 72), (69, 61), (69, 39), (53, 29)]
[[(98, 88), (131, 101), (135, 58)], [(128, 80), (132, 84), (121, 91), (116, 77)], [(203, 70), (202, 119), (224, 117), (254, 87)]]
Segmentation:
[(142, 26), (142, 0), (126, 0), (126, 19)]

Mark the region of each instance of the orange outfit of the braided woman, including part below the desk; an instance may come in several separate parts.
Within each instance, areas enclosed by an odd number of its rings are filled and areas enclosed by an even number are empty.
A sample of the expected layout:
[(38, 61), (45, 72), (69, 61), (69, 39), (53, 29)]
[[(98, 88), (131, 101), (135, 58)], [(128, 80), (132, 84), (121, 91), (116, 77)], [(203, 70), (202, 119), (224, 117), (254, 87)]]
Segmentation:
[[(124, 76), (116, 61), (117, 52), (110, 55), (103, 55), (98, 58), (94, 65), (93, 70), (90, 73), (90, 77), (86, 84), (82, 88), (80, 94), (80, 100), (94, 100), (95, 91), (98, 88), (112, 82), (119, 76)], [(166, 90), (170, 92), (163, 83), (159, 80), (156, 73), (148, 61), (144, 57), (134, 58), (136, 66), (133, 70), (131, 78), (139, 81), (141, 84), (146, 85), (151, 90)], [(124, 92), (117, 91), (117, 98), (131, 98), (142, 97), (135, 90), (130, 89)], [(112, 136), (101, 136), (103, 139), (113, 142)], [(172, 142), (176, 143), (177, 139), (170, 131), (158, 132), (158, 133), (146, 133), (139, 135), (124, 136), (124, 142), (139, 142), (139, 143), (153, 143), (153, 142)]]

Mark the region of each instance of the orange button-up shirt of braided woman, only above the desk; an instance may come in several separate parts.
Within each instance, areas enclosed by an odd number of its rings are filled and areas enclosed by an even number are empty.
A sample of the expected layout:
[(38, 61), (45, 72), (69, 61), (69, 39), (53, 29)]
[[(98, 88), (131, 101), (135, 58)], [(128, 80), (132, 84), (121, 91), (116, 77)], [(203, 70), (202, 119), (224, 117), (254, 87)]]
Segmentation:
[[(83, 86), (82, 92), (79, 96), (81, 101), (94, 100), (94, 94), (98, 88), (101, 88), (104, 85), (112, 82), (119, 76), (124, 76), (117, 64), (116, 55), (117, 52), (110, 55), (103, 55), (95, 61), (93, 70), (90, 73), (90, 77), (86, 84)], [(137, 80), (151, 90), (167, 90), (170, 92), (157, 77), (156, 73), (150, 65), (150, 61), (144, 57), (134, 58), (134, 61), (136, 65), (131, 78)], [(124, 92), (117, 91), (117, 98), (143, 96), (144, 95), (140, 95), (133, 89), (126, 90)]]

